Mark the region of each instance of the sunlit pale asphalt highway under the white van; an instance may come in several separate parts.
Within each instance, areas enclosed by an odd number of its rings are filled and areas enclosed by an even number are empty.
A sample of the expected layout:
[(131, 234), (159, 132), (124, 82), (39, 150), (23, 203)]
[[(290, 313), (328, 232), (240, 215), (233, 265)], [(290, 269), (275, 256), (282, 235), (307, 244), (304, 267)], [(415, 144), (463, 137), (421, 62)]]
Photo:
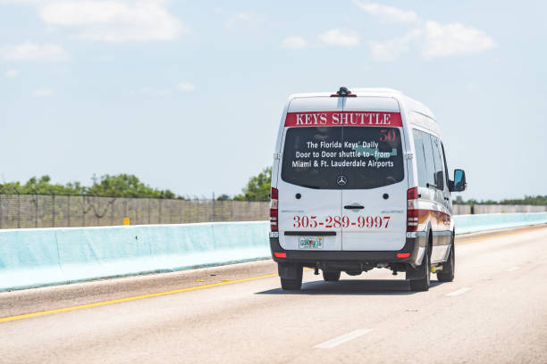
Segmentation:
[(0, 362), (547, 363), (547, 228), (458, 242), (425, 293), (374, 269), (286, 294), (263, 261), (0, 294)]

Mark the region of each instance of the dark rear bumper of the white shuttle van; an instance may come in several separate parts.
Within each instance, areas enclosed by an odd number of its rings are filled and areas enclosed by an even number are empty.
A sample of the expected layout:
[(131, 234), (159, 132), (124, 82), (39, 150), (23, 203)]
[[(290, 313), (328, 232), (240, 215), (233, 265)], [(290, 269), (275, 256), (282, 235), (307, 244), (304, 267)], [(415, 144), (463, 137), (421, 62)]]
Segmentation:
[[(313, 265), (317, 263), (348, 263), (364, 264), (373, 266), (377, 263), (407, 263), (412, 266), (419, 265), (420, 247), (425, 248), (427, 244), (427, 233), (417, 232), (416, 237), (407, 237), (405, 245), (400, 251), (308, 251), (308, 250), (284, 250), (279, 244), (278, 237), (270, 237), (270, 249), (272, 259), (278, 263), (300, 263), (302, 265)], [(275, 252), (284, 253), (285, 258), (275, 256)], [(398, 258), (398, 253), (407, 253), (408, 258)]]

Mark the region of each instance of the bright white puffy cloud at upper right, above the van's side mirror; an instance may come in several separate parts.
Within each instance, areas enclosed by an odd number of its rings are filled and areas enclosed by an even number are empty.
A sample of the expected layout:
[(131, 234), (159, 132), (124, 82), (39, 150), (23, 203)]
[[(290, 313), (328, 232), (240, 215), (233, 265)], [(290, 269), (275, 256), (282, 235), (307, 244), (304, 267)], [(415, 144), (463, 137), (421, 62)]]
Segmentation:
[(459, 23), (442, 25), (436, 21), (425, 22), (425, 59), (457, 54), (473, 54), (492, 49), (496, 44), (483, 31)]

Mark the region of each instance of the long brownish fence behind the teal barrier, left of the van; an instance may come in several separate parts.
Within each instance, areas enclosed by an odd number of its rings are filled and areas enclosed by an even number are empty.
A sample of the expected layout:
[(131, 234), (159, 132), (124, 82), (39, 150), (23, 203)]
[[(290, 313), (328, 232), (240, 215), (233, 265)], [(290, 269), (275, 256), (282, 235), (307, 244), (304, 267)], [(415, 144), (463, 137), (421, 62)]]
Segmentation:
[(0, 194), (0, 228), (99, 227), (268, 219), (269, 202)]

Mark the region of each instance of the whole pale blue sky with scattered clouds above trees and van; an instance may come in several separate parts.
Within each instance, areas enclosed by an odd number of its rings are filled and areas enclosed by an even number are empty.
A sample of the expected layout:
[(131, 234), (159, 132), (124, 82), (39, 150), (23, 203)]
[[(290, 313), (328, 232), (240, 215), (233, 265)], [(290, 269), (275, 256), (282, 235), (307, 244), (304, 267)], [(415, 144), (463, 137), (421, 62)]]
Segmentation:
[(547, 194), (543, 2), (0, 0), (5, 181), (132, 173), (237, 194), (288, 95), (426, 103), (464, 198)]

